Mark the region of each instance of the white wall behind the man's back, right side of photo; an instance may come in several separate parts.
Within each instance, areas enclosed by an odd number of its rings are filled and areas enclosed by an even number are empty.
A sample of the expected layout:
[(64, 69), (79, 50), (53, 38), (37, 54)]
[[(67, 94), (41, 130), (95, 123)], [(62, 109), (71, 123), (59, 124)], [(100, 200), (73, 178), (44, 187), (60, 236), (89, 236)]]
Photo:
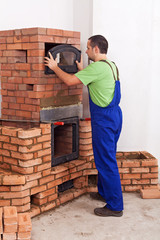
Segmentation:
[(146, 150), (160, 158), (160, 2), (94, 0), (93, 34), (109, 41), (108, 58), (119, 67), (122, 151)]

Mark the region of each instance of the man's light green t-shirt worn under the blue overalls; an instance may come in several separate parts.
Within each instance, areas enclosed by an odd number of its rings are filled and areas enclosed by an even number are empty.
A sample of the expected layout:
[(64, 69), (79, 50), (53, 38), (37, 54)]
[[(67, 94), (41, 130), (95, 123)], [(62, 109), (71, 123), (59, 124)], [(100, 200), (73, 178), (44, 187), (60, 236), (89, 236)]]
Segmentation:
[[(111, 64), (117, 78), (117, 71), (114, 63)], [(88, 85), (92, 101), (100, 106), (108, 106), (114, 96), (115, 80), (111, 67), (105, 62), (93, 62), (83, 70), (75, 74), (76, 77), (86, 86)]]

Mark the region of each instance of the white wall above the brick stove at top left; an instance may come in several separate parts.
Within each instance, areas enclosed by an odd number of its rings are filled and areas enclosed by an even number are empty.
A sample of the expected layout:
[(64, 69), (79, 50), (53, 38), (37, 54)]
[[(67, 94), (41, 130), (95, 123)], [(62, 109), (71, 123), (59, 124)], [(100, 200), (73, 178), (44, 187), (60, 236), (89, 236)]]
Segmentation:
[(0, 30), (51, 27), (73, 29), (74, 0), (1, 1)]

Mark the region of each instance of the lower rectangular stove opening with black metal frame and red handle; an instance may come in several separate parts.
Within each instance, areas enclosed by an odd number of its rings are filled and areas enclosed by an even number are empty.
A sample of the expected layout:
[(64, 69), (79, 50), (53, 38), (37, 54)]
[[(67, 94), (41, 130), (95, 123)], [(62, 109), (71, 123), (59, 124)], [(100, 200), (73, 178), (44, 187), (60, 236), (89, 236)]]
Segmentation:
[(52, 123), (52, 166), (78, 158), (78, 117), (62, 119)]

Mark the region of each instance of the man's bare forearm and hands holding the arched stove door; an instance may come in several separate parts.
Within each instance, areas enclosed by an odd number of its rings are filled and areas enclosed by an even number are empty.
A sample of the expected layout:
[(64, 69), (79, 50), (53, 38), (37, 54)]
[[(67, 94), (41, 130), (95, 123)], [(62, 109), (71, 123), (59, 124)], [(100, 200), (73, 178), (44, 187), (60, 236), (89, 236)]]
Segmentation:
[[(77, 84), (81, 84), (82, 82), (79, 80), (79, 78), (77, 78), (74, 74), (69, 74), (64, 72), (63, 70), (61, 70), (58, 65), (57, 65), (57, 61), (53, 59), (53, 56), (51, 55), (51, 53), (49, 52), (49, 56), (45, 57), (45, 66), (48, 66), (51, 70), (53, 70), (55, 72), (55, 74), (68, 86), (72, 86), (72, 85), (77, 85)], [(82, 62), (82, 58), (81, 58), (81, 62), (77, 63), (77, 66), (79, 68), (79, 70), (83, 69), (83, 62)]]

